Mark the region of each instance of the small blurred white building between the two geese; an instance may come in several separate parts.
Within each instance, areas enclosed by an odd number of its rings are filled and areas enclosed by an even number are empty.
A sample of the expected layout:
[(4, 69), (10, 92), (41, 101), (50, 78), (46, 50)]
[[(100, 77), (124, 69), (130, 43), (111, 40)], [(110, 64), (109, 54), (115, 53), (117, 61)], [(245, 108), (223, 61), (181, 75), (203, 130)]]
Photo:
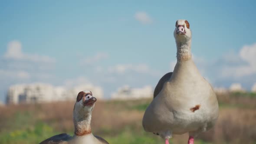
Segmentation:
[(153, 96), (153, 89), (151, 86), (144, 86), (143, 88), (130, 88), (124, 86), (118, 88), (117, 92), (111, 95), (112, 99), (138, 99), (151, 98)]

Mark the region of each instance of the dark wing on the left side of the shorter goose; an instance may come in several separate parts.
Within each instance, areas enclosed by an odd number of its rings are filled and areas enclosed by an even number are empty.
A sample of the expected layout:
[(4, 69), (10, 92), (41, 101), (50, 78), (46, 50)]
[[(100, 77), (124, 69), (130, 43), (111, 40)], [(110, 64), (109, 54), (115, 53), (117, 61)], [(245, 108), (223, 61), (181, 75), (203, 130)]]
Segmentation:
[(63, 133), (50, 137), (42, 141), (40, 144), (67, 144), (69, 139), (71, 139), (71, 136)]

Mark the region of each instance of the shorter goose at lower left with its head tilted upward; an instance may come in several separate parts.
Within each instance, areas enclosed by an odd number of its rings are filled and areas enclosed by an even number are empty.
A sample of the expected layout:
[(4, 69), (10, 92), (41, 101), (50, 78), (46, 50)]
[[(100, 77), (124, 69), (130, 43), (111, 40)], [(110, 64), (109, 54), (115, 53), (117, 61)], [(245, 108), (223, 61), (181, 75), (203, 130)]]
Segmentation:
[(42, 141), (40, 144), (108, 144), (102, 137), (94, 136), (91, 131), (91, 118), (97, 99), (92, 92), (79, 92), (73, 110), (75, 134), (59, 134)]

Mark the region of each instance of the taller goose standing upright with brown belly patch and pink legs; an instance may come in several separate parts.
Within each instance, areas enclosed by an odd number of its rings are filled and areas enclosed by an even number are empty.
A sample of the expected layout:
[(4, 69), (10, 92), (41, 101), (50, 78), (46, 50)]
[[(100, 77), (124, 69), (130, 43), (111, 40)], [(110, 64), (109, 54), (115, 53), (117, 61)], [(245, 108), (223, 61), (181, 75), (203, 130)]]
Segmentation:
[(154, 90), (154, 99), (146, 109), (142, 125), (169, 144), (172, 134), (189, 133), (194, 137), (212, 128), (219, 106), (212, 86), (200, 75), (191, 59), (191, 31), (187, 20), (177, 20), (174, 38), (177, 63), (174, 72), (164, 75)]

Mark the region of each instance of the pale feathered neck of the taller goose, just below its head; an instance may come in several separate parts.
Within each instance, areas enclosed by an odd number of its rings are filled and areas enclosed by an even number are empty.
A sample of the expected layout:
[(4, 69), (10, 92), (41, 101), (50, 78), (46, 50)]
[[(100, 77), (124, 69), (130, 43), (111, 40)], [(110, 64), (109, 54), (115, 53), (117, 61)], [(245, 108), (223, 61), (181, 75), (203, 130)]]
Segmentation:
[(187, 61), (191, 59), (191, 39), (188, 41), (176, 41), (177, 61)]

